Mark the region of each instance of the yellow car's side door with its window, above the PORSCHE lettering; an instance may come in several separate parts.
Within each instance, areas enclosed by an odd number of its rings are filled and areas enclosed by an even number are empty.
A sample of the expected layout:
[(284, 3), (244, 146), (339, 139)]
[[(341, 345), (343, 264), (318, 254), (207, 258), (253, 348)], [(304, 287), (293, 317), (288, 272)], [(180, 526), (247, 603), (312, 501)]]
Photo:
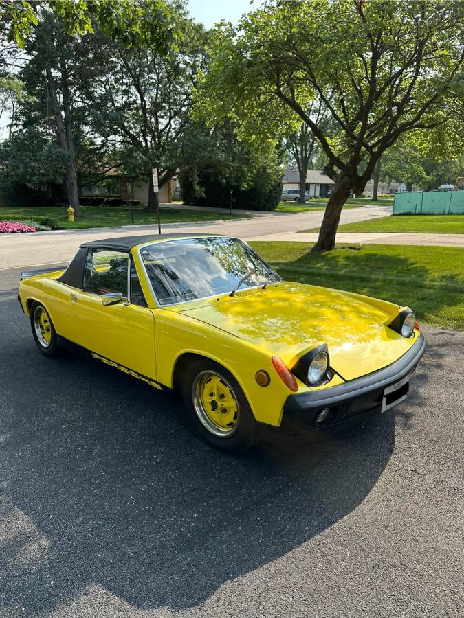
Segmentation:
[[(123, 301), (102, 302), (121, 293)], [(89, 248), (84, 289), (74, 294), (78, 341), (87, 350), (148, 378), (156, 379), (154, 316), (146, 307), (129, 253)]]

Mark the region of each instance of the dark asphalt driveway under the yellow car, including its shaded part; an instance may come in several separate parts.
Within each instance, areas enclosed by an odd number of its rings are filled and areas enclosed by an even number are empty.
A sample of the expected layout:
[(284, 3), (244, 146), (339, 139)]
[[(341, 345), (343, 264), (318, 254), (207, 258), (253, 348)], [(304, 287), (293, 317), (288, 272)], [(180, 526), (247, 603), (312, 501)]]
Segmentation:
[(461, 617), (464, 333), (396, 409), (217, 453), (167, 396), (36, 350), (1, 273), (1, 617)]

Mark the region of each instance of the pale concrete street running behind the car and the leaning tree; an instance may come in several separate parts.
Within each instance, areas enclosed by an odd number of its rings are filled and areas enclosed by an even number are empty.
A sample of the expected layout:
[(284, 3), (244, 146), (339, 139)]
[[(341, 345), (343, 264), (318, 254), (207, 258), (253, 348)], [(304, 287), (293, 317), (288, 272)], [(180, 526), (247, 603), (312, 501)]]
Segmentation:
[[(393, 207), (361, 207), (342, 212), (342, 223), (363, 221), (391, 214)], [(219, 233), (239, 236), (239, 238), (258, 238), (274, 233), (293, 232), (300, 229), (317, 227), (322, 222), (324, 211), (310, 213), (279, 214), (256, 218), (218, 221), (212, 223), (173, 223), (163, 225), (165, 233), (199, 232)], [(82, 242), (124, 236), (126, 234), (156, 234), (155, 216), (153, 225), (128, 225), (124, 227), (93, 228), (80, 230), (60, 230), (34, 234), (0, 234), (0, 270), (15, 266), (32, 266), (32, 264), (50, 264), (68, 262), (76, 253)]]

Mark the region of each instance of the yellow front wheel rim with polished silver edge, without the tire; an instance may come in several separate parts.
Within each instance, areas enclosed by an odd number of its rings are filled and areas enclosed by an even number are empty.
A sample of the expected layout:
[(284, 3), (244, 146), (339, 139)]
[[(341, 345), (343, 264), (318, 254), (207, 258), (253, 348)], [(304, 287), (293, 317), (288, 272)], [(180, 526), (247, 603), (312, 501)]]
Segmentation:
[(203, 427), (217, 437), (236, 431), (240, 409), (229, 382), (214, 371), (201, 371), (192, 384), (192, 401)]

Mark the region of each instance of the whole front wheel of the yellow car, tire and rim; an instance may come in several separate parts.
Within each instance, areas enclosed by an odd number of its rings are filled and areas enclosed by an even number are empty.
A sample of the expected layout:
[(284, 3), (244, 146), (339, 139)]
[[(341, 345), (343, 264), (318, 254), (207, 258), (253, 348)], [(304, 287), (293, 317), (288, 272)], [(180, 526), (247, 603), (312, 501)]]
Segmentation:
[(201, 437), (220, 450), (241, 453), (257, 442), (256, 421), (239, 383), (213, 361), (195, 361), (184, 380), (184, 404)]

